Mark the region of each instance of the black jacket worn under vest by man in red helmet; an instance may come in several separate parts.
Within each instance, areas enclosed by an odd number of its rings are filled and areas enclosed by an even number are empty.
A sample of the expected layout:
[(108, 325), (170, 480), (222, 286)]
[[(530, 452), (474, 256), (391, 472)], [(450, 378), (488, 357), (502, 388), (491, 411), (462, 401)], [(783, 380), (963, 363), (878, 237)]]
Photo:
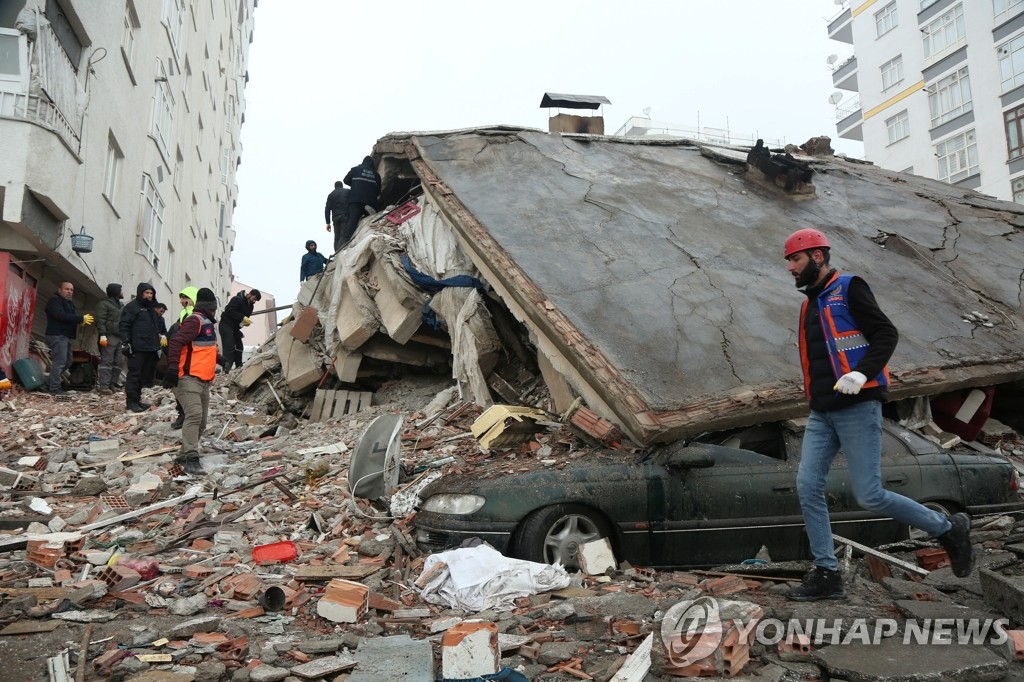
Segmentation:
[[(827, 275), (824, 282), (827, 283), (830, 278), (831, 274)], [(834, 388), (839, 377), (836, 376), (831, 363), (828, 360), (825, 333), (821, 329), (817, 305), (818, 294), (823, 288), (824, 284), (821, 284), (816, 287), (808, 287), (804, 291), (807, 298), (810, 299), (803, 325), (807, 339), (807, 356), (810, 361), (811, 410), (828, 412), (829, 410), (848, 408), (854, 402), (889, 399), (889, 391), (886, 386), (865, 388), (856, 395), (839, 393)], [(867, 342), (871, 345), (857, 367), (853, 369), (871, 379), (882, 372), (882, 368), (892, 357), (899, 341), (899, 332), (896, 331), (896, 326), (886, 316), (886, 313), (882, 312), (867, 283), (860, 278), (854, 278), (850, 282), (848, 305), (850, 314), (857, 321), (857, 328), (863, 332)]]

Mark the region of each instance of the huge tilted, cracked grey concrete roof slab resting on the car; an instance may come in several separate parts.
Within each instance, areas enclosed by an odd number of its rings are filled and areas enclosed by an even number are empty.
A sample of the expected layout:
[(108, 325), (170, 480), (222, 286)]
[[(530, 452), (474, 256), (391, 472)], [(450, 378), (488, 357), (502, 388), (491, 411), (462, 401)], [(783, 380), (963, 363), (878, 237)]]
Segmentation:
[(412, 166), (539, 349), (640, 442), (806, 413), (781, 251), (800, 227), (899, 328), (894, 397), (1024, 377), (1016, 204), (842, 159), (810, 161), (816, 195), (797, 201), (685, 140), (503, 127), (376, 153)]

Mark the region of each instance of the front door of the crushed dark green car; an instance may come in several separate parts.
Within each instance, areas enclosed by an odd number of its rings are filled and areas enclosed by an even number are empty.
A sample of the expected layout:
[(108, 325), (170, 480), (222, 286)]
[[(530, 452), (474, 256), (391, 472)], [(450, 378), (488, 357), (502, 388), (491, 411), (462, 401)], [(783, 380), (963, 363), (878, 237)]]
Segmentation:
[(701, 447), (714, 460), (711, 467), (664, 467), (650, 478), (651, 563), (734, 563), (754, 558), (762, 546), (773, 559), (788, 558), (803, 531), (792, 463)]

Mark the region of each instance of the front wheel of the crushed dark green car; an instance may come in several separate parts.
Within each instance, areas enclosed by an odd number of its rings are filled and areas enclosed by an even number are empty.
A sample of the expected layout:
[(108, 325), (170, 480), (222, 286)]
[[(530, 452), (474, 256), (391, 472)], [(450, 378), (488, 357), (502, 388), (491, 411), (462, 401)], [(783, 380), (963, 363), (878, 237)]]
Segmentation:
[(580, 546), (609, 538), (608, 524), (597, 512), (580, 505), (554, 505), (539, 509), (522, 522), (515, 554), (538, 563), (558, 562), (580, 568)]

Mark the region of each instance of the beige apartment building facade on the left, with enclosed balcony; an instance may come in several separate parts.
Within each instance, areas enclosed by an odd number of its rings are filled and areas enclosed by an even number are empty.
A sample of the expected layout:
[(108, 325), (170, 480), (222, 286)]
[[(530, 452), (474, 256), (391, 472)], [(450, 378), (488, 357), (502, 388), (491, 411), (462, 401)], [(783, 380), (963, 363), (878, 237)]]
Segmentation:
[(37, 287), (37, 336), (65, 280), (80, 309), (111, 282), (227, 300), (255, 5), (0, 4), (0, 251)]

